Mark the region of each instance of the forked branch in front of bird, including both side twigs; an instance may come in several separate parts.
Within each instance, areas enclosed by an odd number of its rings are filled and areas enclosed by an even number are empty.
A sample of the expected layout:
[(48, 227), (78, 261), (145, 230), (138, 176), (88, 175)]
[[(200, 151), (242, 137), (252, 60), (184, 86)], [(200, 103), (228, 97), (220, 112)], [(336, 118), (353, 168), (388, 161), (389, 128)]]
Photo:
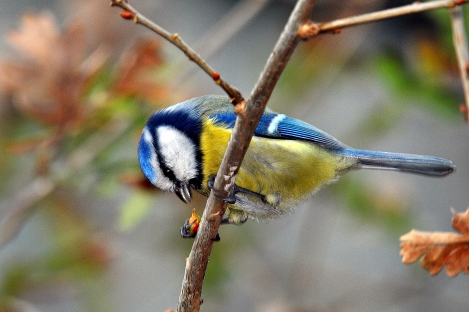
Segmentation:
[[(238, 117), (228, 142), (226, 152), (214, 181), (214, 187), (208, 197), (205, 210), (198, 228), (197, 236), (189, 257), (186, 260), (186, 269), (179, 297), (178, 311), (198, 311), (201, 304), (201, 290), (203, 278), (208, 264), (208, 258), (213, 246), (221, 218), (226, 210), (226, 202), (218, 198), (227, 197), (234, 186), (241, 162), (248, 149), (249, 143), (257, 124), (264, 112), (275, 84), (284, 70), (290, 56), (301, 40), (310, 39), (319, 33), (335, 32), (340, 28), (363, 24), (371, 21), (391, 18), (404, 14), (411, 14), (436, 8), (453, 8), (469, 0), (437, 0), (430, 2), (415, 2), (397, 8), (378, 12), (362, 14), (334, 21), (315, 23), (309, 18), (315, 0), (299, 0), (290, 15), (290, 18), (272, 52), (261, 76), (251, 92), (250, 98), (245, 101), (237, 89), (231, 88), (219, 78), (219, 75), (200, 56), (184, 43), (177, 33), (171, 34), (157, 24), (150, 21), (136, 11), (125, 0), (112, 0), (111, 5), (118, 5), (125, 9), (121, 12), (124, 18), (131, 18), (157, 32), (168, 41), (179, 47), (189, 59), (195, 61), (206, 73), (212, 76), (217, 83), (232, 98), (235, 112)], [(216, 194), (216, 196), (215, 196)]]

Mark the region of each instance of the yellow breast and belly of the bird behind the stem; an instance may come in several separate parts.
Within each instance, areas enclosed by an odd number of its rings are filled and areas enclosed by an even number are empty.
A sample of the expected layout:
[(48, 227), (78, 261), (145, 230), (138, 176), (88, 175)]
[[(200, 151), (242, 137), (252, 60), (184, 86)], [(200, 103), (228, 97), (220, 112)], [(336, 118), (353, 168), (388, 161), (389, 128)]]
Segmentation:
[[(203, 125), (200, 144), (204, 181), (201, 192), (205, 195), (209, 193), (208, 175), (218, 171), (230, 135), (231, 130), (211, 120)], [(353, 164), (353, 160), (310, 142), (254, 136), (236, 184), (266, 195), (274, 206), (282, 209), (314, 193)]]

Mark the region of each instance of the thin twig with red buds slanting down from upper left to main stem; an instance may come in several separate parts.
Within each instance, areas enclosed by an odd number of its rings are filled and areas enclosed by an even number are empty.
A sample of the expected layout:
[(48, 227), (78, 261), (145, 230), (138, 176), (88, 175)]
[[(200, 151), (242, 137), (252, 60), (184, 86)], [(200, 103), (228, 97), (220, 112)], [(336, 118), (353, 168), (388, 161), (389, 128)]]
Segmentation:
[(124, 9), (121, 12), (121, 16), (124, 18), (131, 18), (135, 23), (144, 25), (145, 27), (155, 31), (163, 38), (177, 46), (187, 57), (194, 61), (200, 68), (203, 69), (216, 84), (219, 84), (223, 90), (229, 95), (233, 103), (239, 103), (244, 101), (243, 95), (240, 90), (229, 85), (225, 80), (221, 79), (219, 73), (215, 71), (200, 55), (192, 49), (187, 43), (185, 43), (178, 33), (170, 33), (163, 27), (151, 21), (148, 17), (137, 11), (132, 5), (125, 0), (111, 0), (111, 5), (117, 5)]

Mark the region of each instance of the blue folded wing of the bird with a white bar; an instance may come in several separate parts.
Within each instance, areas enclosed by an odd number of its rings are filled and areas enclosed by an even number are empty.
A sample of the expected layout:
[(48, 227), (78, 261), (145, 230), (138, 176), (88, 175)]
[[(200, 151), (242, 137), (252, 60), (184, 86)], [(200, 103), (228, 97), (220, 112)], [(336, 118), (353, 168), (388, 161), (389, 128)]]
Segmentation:
[[(213, 114), (210, 118), (215, 120), (217, 123), (222, 123), (225, 126), (232, 128), (235, 125), (236, 114), (222, 112)], [(348, 146), (338, 141), (332, 135), (327, 134), (317, 127), (278, 113), (263, 114), (254, 135), (278, 139), (309, 141), (333, 151), (348, 148)]]

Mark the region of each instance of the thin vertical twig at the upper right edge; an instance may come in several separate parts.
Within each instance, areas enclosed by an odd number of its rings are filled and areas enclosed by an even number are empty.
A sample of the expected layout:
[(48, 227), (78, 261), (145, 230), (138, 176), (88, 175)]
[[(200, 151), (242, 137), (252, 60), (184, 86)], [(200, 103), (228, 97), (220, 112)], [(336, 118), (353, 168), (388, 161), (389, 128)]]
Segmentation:
[(457, 64), (459, 66), (462, 88), (464, 90), (467, 118), (467, 112), (469, 112), (469, 78), (467, 77), (467, 71), (469, 70), (469, 51), (467, 49), (467, 36), (462, 7), (456, 6), (449, 9), (449, 16), (451, 18), (454, 50), (456, 51)]

